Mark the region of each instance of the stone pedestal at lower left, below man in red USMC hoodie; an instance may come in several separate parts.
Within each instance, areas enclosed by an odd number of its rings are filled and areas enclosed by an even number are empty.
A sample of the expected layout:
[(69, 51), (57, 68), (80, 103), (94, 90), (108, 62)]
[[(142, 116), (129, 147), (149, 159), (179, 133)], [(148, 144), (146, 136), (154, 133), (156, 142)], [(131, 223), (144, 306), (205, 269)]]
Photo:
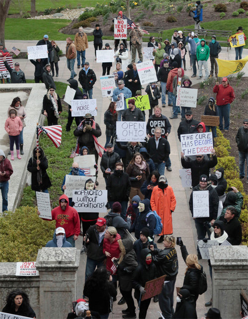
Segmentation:
[(66, 318), (76, 300), (76, 271), (80, 250), (43, 247), (36, 268), (40, 274), (40, 318)]

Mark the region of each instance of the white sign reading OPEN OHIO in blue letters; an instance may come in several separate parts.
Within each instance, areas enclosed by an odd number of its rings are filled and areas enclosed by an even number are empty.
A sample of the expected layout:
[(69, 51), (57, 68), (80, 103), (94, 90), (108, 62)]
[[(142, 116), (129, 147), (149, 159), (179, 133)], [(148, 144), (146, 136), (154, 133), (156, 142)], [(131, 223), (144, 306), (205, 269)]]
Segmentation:
[(118, 142), (144, 142), (146, 137), (145, 122), (116, 122)]

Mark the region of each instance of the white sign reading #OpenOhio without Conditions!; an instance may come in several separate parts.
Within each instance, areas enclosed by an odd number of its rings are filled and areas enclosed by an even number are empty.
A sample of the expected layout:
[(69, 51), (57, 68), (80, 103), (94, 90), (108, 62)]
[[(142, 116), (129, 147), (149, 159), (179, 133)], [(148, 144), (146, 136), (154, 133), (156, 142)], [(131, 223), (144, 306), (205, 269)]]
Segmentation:
[(107, 190), (73, 190), (72, 201), (75, 203), (74, 208), (79, 212), (87, 213), (106, 213), (106, 204), (108, 202)]

